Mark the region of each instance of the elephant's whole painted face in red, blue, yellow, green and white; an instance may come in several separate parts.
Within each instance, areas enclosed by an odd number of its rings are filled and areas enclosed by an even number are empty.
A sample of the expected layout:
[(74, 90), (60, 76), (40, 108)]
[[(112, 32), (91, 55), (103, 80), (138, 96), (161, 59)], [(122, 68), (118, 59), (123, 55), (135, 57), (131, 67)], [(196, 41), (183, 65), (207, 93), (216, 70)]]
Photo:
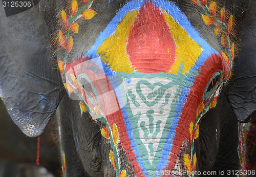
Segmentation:
[[(62, 19), (67, 20), (63, 11)], [(62, 47), (64, 37), (60, 31)], [(68, 58), (72, 37), (66, 45)], [(70, 97), (103, 122), (117, 175), (125, 172), (120, 149), (135, 174), (152, 175), (196, 169), (198, 123), (216, 105), (231, 58), (210, 47), (175, 3), (129, 1), (82, 58), (59, 66)]]

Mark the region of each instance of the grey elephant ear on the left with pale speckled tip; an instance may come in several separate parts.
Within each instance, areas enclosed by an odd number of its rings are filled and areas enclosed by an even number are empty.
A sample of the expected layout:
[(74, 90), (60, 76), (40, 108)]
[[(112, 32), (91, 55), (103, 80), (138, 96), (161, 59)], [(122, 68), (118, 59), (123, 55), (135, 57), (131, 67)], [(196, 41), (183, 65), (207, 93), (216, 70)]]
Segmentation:
[(0, 97), (29, 137), (42, 134), (62, 97), (60, 73), (38, 5), (7, 17), (0, 6)]

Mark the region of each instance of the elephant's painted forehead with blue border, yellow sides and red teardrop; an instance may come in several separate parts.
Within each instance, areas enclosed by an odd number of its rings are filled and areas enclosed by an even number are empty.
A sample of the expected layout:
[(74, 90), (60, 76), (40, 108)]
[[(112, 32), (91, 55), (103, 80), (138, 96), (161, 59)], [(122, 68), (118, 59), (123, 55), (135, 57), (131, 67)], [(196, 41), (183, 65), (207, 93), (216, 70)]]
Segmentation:
[(131, 1), (117, 12), (85, 54), (114, 72), (182, 73), (201, 67), (214, 53), (172, 2)]

